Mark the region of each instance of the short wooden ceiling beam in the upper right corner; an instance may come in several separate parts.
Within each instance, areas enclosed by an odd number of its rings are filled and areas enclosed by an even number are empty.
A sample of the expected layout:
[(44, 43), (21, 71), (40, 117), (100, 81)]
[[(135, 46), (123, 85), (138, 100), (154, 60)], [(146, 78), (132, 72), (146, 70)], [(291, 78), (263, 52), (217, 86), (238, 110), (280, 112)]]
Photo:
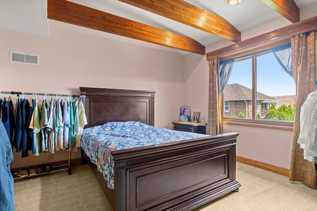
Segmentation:
[(294, 0), (262, 0), (266, 5), (281, 14), (292, 23), (298, 22), (299, 8)]

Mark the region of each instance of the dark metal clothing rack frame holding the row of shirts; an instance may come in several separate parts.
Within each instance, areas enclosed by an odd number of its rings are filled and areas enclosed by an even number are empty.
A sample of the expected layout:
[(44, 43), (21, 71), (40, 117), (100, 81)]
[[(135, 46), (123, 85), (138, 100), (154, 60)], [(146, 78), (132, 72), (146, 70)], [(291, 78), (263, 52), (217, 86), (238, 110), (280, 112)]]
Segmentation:
[[(16, 94), (17, 95), (17, 101), (19, 100), (19, 97), (21, 94), (26, 94), (26, 95), (42, 95), (42, 96), (56, 96), (56, 97), (72, 97), (72, 98), (83, 98), (83, 97), (86, 97), (86, 95), (69, 95), (69, 94), (52, 94), (52, 93), (37, 93), (37, 92), (20, 92), (20, 91), (0, 91), (0, 97), (1, 97), (1, 94)], [(16, 109), (17, 109), (17, 105), (15, 107), (15, 115), (16, 115)], [(13, 147), (12, 147), (12, 150), (13, 150)], [(36, 176), (36, 175), (42, 175), (42, 174), (45, 174), (45, 173), (51, 173), (51, 172), (55, 172), (55, 171), (61, 171), (61, 170), (68, 170), (68, 175), (71, 174), (71, 169), (70, 169), (70, 156), (71, 156), (71, 147), (69, 147), (69, 153), (68, 153), (68, 162), (67, 164), (65, 165), (60, 165), (60, 166), (55, 166), (52, 168), (52, 170), (50, 172), (44, 172), (44, 173), (41, 173), (41, 174), (35, 174), (35, 175), (28, 175), (28, 176), (25, 176), (25, 177), (30, 177), (30, 176)], [(10, 165), (11, 166), (11, 165)], [(65, 167), (66, 168), (63, 168)], [(25, 177), (18, 177), (16, 176), (15, 174), (17, 173), (12, 173), (13, 175), (13, 179), (19, 179), (19, 178), (25, 178)]]

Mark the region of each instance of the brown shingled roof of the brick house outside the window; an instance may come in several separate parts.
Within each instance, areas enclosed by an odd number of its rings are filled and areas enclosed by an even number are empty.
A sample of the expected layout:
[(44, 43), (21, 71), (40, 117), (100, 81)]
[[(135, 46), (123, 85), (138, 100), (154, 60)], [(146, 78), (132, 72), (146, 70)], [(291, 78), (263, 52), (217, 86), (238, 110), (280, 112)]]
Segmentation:
[[(224, 100), (252, 100), (252, 89), (241, 84), (227, 84), (223, 92)], [(278, 103), (278, 99), (257, 91), (257, 98), (262, 103)]]

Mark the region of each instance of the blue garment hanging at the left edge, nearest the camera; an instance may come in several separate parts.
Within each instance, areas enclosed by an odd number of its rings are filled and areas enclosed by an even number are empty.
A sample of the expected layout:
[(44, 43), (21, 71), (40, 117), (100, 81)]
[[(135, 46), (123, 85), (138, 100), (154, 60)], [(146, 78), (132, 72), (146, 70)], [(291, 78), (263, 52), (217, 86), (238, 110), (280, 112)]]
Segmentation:
[(0, 121), (0, 210), (14, 211), (13, 177), (10, 164), (13, 161), (10, 139)]

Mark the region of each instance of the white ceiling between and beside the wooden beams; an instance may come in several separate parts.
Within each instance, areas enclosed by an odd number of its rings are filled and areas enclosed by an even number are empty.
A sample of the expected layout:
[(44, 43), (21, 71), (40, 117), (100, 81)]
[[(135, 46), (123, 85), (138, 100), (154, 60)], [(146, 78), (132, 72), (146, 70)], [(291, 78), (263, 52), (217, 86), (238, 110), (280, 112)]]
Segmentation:
[[(208, 46), (222, 40), (207, 32), (192, 28), (118, 0), (70, 0), (130, 20), (178, 33)], [(241, 0), (229, 5), (226, 0), (185, 0), (231, 23), (240, 32), (271, 21), (280, 14), (261, 0)], [(317, 0), (295, 0), (301, 9)], [(291, 22), (290, 22), (291, 23)], [(46, 0), (0, 0), (0, 28), (39, 36), (49, 36)]]

